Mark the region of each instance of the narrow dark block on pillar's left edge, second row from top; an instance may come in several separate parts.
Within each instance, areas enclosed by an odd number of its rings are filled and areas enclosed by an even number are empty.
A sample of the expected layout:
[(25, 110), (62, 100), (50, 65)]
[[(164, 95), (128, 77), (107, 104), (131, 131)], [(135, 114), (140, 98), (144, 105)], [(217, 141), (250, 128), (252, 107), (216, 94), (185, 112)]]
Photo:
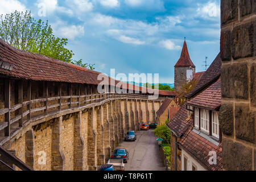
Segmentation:
[(232, 57), (231, 53), (231, 31), (221, 31), (221, 40), (220, 40), (220, 51), (221, 51), (221, 60), (230, 61)]

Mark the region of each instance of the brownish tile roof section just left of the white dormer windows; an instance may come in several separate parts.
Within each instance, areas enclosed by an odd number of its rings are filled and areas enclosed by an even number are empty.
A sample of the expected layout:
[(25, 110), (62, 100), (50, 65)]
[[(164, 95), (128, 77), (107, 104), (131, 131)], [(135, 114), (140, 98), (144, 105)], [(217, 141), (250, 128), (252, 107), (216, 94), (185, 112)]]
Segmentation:
[(182, 136), (189, 127), (192, 126), (192, 119), (186, 120), (188, 118), (188, 110), (186, 109), (186, 105), (183, 104), (179, 111), (174, 115), (174, 118), (170, 120), (167, 126), (170, 128), (172, 132), (175, 133), (177, 137)]

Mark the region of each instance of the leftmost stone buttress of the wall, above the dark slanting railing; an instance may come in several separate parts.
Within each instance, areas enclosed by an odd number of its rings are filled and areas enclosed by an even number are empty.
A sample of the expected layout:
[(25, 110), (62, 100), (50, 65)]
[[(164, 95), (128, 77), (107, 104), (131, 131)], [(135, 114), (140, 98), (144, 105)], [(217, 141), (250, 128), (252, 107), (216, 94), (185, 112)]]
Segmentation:
[(35, 141), (34, 131), (29, 130), (26, 133), (26, 164), (34, 169), (35, 162)]

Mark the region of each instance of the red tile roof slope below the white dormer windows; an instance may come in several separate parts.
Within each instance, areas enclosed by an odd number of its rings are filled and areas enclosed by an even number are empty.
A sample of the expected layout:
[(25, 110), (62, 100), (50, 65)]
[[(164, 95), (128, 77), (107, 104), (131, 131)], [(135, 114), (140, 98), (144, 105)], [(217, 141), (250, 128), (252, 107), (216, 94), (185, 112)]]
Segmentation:
[[(193, 158), (210, 171), (222, 171), (222, 143), (218, 146), (209, 140), (189, 129), (185, 135), (177, 142), (182, 150), (188, 152)], [(217, 154), (217, 164), (209, 164), (209, 152), (215, 151)]]

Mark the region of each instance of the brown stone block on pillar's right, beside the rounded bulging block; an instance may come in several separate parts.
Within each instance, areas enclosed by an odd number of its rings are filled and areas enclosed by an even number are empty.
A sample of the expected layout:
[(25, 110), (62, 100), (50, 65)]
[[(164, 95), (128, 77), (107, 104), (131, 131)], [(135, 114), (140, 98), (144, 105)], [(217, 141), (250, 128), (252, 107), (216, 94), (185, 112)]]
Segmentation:
[(255, 143), (255, 115), (249, 105), (235, 105), (236, 137)]

